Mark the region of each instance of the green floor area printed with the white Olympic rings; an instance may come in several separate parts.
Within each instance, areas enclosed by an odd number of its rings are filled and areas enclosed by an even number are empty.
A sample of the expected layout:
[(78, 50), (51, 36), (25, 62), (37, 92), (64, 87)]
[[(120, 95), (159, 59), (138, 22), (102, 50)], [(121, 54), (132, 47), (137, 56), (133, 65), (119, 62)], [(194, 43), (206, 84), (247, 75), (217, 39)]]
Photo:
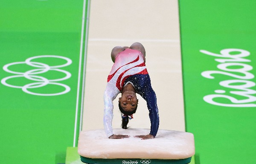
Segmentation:
[(79, 128), (82, 11), (83, 0), (1, 0), (0, 163), (65, 162), (66, 148), (73, 146), (76, 109)]

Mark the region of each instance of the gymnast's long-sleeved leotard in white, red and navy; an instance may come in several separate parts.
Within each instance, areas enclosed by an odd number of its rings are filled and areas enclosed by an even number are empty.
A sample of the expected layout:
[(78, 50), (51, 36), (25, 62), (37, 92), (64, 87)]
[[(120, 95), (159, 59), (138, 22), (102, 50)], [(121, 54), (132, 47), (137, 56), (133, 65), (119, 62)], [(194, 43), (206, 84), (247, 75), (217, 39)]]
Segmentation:
[(156, 136), (159, 127), (157, 98), (151, 87), (143, 55), (140, 51), (129, 48), (116, 56), (115, 63), (108, 76), (108, 83), (104, 93), (105, 109), (103, 119), (106, 135), (108, 137), (113, 135), (113, 100), (121, 93), (122, 87), (126, 82), (131, 82), (136, 93), (146, 100), (151, 122), (150, 134)]

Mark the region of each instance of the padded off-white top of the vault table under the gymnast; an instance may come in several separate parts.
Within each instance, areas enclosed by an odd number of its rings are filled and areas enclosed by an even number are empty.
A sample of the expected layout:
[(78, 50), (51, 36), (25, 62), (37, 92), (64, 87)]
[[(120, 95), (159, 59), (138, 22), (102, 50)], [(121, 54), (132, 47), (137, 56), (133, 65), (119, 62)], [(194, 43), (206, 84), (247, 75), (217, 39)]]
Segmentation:
[(108, 139), (103, 129), (81, 131), (78, 153), (87, 158), (144, 158), (185, 159), (195, 154), (192, 133), (158, 130), (155, 139), (141, 140), (137, 135), (146, 135), (149, 129), (113, 129), (114, 134), (129, 135), (128, 139)]

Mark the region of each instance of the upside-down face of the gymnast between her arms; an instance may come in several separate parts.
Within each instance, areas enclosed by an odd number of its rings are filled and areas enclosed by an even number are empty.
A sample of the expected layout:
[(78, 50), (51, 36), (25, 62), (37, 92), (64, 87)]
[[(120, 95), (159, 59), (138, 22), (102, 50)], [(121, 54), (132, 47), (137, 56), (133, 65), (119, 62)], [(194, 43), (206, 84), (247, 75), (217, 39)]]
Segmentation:
[(119, 98), (119, 102), (123, 110), (131, 112), (137, 107), (138, 99), (134, 92), (125, 91)]

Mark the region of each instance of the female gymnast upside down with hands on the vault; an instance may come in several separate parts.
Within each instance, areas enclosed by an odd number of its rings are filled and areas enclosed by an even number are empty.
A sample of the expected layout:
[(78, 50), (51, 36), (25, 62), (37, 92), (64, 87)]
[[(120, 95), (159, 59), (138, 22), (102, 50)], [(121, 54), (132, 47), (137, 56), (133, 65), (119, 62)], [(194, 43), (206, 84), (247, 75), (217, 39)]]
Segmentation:
[(104, 93), (104, 128), (109, 139), (129, 138), (128, 135), (115, 135), (112, 130), (113, 100), (119, 93), (119, 109), (122, 113), (122, 128), (126, 129), (129, 119), (137, 110), (136, 93), (145, 99), (149, 111), (151, 130), (148, 135), (134, 136), (141, 139), (154, 139), (159, 127), (157, 98), (151, 87), (150, 77), (145, 66), (145, 48), (139, 42), (131, 47), (115, 47), (111, 52), (114, 62), (108, 76)]

